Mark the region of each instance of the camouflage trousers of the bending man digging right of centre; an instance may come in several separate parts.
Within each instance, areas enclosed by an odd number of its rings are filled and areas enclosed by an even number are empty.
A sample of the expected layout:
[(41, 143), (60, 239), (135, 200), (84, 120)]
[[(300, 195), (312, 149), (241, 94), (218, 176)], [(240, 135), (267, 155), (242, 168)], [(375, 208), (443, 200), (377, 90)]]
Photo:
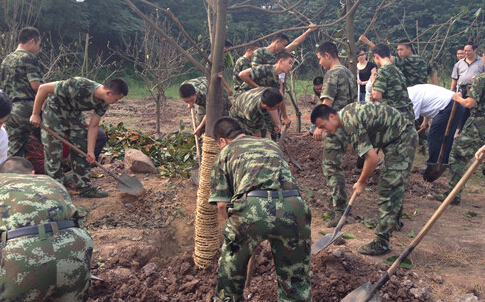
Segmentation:
[(401, 219), (404, 191), (417, 145), (418, 134), (414, 126), (408, 126), (396, 142), (382, 148), (385, 159), (377, 187), (379, 221), (375, 233), (387, 242)]

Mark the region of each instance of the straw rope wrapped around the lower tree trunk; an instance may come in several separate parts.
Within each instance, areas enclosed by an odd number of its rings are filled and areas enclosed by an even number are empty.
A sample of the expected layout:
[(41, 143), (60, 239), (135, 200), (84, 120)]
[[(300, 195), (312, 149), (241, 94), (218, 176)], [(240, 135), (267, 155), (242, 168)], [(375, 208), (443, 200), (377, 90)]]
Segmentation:
[(202, 142), (202, 164), (199, 172), (194, 239), (194, 263), (200, 268), (212, 263), (214, 255), (220, 247), (217, 207), (208, 203), (211, 170), (219, 153), (219, 146), (212, 137), (205, 135), (202, 135)]

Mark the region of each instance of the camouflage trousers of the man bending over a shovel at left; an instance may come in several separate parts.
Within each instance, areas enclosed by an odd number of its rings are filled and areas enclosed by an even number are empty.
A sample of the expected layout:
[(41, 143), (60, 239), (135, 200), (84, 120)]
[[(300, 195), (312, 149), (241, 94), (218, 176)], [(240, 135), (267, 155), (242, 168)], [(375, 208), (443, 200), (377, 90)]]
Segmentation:
[[(47, 107), (42, 119), (44, 124), (57, 132), (60, 136), (67, 136), (67, 140), (82, 151), (87, 150), (87, 128), (84, 114), (78, 116), (57, 112)], [(42, 144), (44, 145), (44, 168), (45, 174), (64, 183), (64, 172), (62, 170), (62, 142), (42, 130)], [(73, 180), (77, 189), (85, 189), (91, 186), (91, 164), (77, 152), (71, 152), (71, 164)]]

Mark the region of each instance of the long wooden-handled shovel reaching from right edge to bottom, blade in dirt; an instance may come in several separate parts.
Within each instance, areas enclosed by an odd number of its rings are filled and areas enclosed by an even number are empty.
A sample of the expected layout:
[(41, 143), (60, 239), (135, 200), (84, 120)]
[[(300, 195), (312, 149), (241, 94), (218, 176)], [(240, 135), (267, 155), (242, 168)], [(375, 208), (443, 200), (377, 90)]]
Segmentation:
[(392, 264), (392, 266), (387, 270), (384, 276), (381, 277), (377, 281), (375, 285), (372, 285), (370, 282), (366, 282), (361, 285), (359, 288), (353, 290), (350, 294), (345, 296), (341, 302), (366, 302), (366, 301), (380, 301), (376, 293), (377, 291), (389, 280), (389, 278), (396, 272), (399, 265), (406, 259), (406, 257), (414, 250), (414, 248), (418, 245), (418, 243), (423, 239), (423, 237), (428, 233), (431, 227), (434, 225), (436, 220), (441, 216), (441, 214), (446, 210), (449, 204), (453, 201), (455, 196), (460, 192), (461, 189), (465, 186), (465, 183), (470, 179), (473, 172), (478, 167), (479, 161), (482, 158), (480, 155), (479, 159), (472, 163), (470, 168), (466, 171), (465, 175), (460, 179), (460, 181), (456, 184), (455, 188), (450, 192), (448, 197), (443, 201), (441, 206), (436, 210), (433, 216), (428, 220), (426, 225), (421, 229), (419, 234), (414, 238), (411, 244), (399, 255), (399, 258)]

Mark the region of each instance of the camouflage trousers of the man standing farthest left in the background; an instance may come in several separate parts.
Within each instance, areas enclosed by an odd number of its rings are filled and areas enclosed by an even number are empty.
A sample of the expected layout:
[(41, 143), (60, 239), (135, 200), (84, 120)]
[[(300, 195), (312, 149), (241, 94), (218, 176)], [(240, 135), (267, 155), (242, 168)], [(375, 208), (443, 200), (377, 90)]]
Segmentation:
[(29, 136), (35, 126), (30, 124), (34, 100), (23, 100), (13, 103), (12, 112), (5, 123), (8, 134), (8, 156), (25, 157)]

